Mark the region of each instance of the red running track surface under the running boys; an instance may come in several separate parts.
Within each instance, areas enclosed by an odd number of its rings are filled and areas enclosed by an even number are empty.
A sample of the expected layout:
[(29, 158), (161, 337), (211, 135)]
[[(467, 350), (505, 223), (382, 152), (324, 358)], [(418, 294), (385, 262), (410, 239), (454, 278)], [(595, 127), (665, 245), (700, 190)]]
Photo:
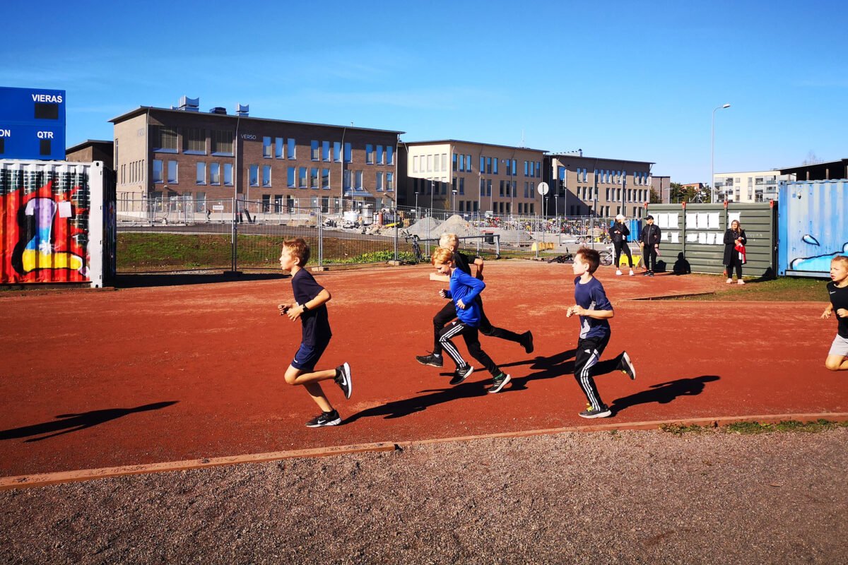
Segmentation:
[[(598, 377), (616, 414), (595, 422), (848, 412), (848, 374), (823, 366), (836, 331), (819, 319), (825, 302), (638, 301), (724, 283), (613, 273), (599, 272), (616, 309), (603, 358), (626, 348), (638, 377)], [(444, 303), (428, 274), (420, 265), (316, 275), (333, 296), (334, 336), (319, 367), (353, 368), (349, 401), (325, 385), (345, 418), (329, 429), (304, 427), (318, 411), (282, 381), (300, 339), (299, 321), (276, 311), (291, 296), (290, 279), (8, 293), (0, 298), (0, 476), (587, 424), (571, 374), (570, 265), (488, 263), (488, 317), (533, 330), (536, 346), (527, 355), (482, 337), (512, 375), (497, 395), (486, 393), (481, 368), (452, 387), (452, 366), (416, 363), (432, 347), (432, 315)]]

